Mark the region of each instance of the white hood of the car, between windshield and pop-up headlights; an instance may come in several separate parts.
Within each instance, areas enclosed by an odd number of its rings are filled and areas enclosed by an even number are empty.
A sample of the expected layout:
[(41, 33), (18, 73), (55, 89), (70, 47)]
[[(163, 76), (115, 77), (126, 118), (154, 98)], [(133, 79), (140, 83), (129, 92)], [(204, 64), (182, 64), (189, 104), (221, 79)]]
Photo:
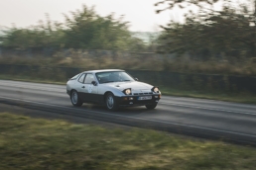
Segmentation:
[(111, 86), (114, 88), (117, 88), (119, 90), (124, 90), (127, 88), (131, 88), (133, 91), (136, 90), (151, 90), (152, 85), (149, 85), (147, 83), (142, 83), (138, 81), (132, 81), (132, 82), (114, 82), (114, 83), (107, 83), (106, 86)]

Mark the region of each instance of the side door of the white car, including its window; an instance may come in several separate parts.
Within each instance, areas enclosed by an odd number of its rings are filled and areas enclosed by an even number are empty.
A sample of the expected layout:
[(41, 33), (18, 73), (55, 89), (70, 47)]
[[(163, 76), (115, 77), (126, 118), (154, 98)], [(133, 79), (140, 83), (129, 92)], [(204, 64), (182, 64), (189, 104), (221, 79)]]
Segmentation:
[(94, 75), (87, 73), (84, 79), (85, 93), (84, 99), (88, 102), (98, 103), (98, 86), (93, 85), (91, 82), (96, 81)]

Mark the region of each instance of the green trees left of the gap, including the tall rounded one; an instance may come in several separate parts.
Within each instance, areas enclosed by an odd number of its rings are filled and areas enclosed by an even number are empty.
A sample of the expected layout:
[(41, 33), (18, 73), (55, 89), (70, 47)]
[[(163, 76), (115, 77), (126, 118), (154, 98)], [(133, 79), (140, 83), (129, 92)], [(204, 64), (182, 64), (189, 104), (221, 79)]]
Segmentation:
[(132, 36), (128, 22), (121, 16), (99, 16), (85, 5), (81, 10), (64, 15), (64, 23), (47, 21), (29, 28), (5, 29), (0, 45), (9, 48), (83, 48), (107, 50), (144, 50), (145, 43)]

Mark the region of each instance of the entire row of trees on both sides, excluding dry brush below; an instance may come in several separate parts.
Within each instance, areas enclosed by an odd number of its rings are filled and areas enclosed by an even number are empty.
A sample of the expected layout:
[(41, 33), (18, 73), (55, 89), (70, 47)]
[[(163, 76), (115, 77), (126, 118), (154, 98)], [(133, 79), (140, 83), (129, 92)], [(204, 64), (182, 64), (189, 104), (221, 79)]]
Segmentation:
[[(160, 36), (145, 44), (129, 32), (129, 23), (114, 15), (102, 17), (93, 8), (64, 15), (64, 23), (46, 22), (27, 29), (13, 27), (0, 37), (0, 45), (11, 48), (54, 47), (107, 50), (157, 51), (189, 55), (199, 60), (244, 58), (256, 62), (256, 0), (234, 3), (221, 0), (163, 0), (157, 11), (180, 8), (186, 10), (185, 22), (171, 20), (161, 26)], [(220, 6), (220, 5), (219, 5)], [(161, 6), (163, 7), (163, 6)]]

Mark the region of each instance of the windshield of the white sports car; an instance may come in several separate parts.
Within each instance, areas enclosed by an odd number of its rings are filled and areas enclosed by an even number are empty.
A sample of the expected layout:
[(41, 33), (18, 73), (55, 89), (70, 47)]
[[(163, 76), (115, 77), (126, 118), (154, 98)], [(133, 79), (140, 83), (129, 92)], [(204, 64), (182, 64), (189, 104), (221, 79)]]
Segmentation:
[(134, 79), (124, 71), (111, 71), (96, 73), (96, 77), (100, 84), (111, 82), (134, 81)]

